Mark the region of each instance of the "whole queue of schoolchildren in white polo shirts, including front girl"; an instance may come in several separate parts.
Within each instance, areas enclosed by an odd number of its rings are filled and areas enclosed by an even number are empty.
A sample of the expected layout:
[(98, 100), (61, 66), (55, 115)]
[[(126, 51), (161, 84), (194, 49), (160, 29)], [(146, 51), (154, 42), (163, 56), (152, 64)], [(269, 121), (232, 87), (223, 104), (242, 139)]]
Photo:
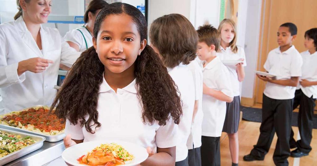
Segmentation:
[[(293, 23), (282, 24), (277, 34), (279, 47), (264, 64), (277, 77), (257, 75), (268, 82), (261, 133), (243, 159), (263, 160), (276, 132), (273, 160), (288, 165), (289, 156), (311, 151), (317, 30), (305, 33), (308, 51), (302, 54), (292, 45)], [(72, 66), (52, 105), (67, 119), (65, 146), (115, 139), (145, 147), (149, 157), (141, 165), (213, 166), (220, 165), (220, 136), (226, 132), (232, 165), (238, 165), (239, 84), (246, 58), (236, 45), (235, 22), (224, 19), (218, 29), (204, 25), (196, 31), (183, 15), (170, 14), (152, 23), (151, 46), (146, 36), (146, 19), (137, 8), (112, 3), (100, 10), (93, 46)], [(240, 62), (223, 64), (230, 60)], [(296, 143), (290, 121), (298, 105), (302, 139)], [(290, 152), (292, 146), (297, 149)]]

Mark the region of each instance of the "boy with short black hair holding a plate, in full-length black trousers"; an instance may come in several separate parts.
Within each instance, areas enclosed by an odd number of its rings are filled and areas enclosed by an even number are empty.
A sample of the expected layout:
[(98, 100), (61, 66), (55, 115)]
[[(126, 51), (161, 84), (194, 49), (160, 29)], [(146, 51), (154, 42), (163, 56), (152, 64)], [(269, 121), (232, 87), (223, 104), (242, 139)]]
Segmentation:
[(264, 160), (276, 132), (278, 141), (273, 161), (278, 166), (288, 165), (293, 98), (302, 66), (301, 54), (292, 45), (296, 34), (297, 27), (293, 23), (284, 23), (279, 27), (279, 47), (268, 53), (264, 64), (264, 69), (276, 78), (257, 74), (257, 77), (267, 82), (263, 92), (262, 123), (258, 142), (251, 153), (243, 157), (244, 161)]

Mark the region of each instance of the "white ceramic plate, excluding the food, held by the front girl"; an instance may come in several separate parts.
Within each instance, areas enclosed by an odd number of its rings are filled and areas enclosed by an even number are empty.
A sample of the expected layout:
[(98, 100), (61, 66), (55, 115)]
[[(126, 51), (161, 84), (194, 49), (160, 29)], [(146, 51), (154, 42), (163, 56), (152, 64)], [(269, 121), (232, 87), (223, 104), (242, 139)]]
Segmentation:
[(87, 166), (85, 164), (80, 164), (77, 161), (77, 158), (81, 157), (82, 155), (86, 155), (88, 152), (92, 151), (95, 147), (100, 146), (101, 144), (108, 144), (108, 143), (116, 143), (121, 145), (124, 149), (126, 149), (130, 154), (134, 156), (134, 159), (131, 161), (126, 161), (125, 166), (128, 165), (137, 165), (142, 163), (148, 157), (148, 153), (146, 149), (142, 146), (137, 144), (129, 143), (129, 142), (122, 142), (122, 141), (91, 141), (91, 142), (84, 142), (81, 144), (73, 145), (63, 151), (61, 157), (64, 159), (66, 163), (69, 163), (74, 166)]

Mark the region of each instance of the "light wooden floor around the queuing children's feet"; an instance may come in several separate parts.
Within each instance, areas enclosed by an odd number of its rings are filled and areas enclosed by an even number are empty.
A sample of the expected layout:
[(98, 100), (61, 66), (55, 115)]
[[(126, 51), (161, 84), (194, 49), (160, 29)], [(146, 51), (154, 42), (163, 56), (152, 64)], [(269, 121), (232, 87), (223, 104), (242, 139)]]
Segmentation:
[[(254, 107), (261, 108), (261, 104), (255, 105)], [(298, 110), (295, 110), (298, 111)], [(316, 112), (315, 112), (316, 113)], [(239, 124), (239, 165), (240, 166), (271, 166), (274, 165), (273, 162), (273, 153), (275, 150), (276, 140), (277, 136), (275, 134), (271, 148), (268, 152), (268, 154), (265, 156), (264, 161), (253, 161), (253, 162), (245, 162), (243, 161), (243, 156), (250, 153), (250, 151), (253, 148), (253, 145), (256, 144), (257, 139), (259, 137), (261, 123), (258, 122), (250, 122), (246, 120), (242, 120)], [(295, 133), (294, 138), (297, 138), (298, 134), (298, 128), (292, 127), (293, 131)], [(229, 151), (229, 140), (228, 136), (223, 133), (221, 140), (220, 140), (220, 153), (221, 153), (221, 165), (224, 166), (231, 166), (231, 157), (230, 157), (230, 151)], [(311, 166), (311, 165), (317, 165), (317, 129), (313, 129), (313, 139), (311, 142), (311, 146), (313, 150), (309, 153), (308, 156), (301, 157), (301, 158), (293, 158), (289, 157), (288, 162), (289, 166)]]

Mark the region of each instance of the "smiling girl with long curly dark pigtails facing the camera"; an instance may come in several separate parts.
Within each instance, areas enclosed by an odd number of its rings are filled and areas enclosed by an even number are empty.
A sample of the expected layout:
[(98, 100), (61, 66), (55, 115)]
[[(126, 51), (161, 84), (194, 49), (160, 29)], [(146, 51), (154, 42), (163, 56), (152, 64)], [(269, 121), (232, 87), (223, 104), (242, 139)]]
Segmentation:
[(70, 69), (51, 107), (67, 120), (66, 148), (126, 141), (147, 148), (141, 165), (175, 164), (181, 101), (146, 35), (146, 19), (132, 5), (112, 3), (100, 11), (94, 46)]

